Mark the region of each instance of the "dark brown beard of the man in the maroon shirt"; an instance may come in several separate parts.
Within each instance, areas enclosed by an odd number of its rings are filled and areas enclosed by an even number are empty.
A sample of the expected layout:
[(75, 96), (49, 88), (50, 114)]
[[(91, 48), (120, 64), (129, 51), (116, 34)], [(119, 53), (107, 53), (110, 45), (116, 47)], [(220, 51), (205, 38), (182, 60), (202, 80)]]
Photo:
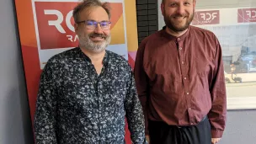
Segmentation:
[[(184, 18), (186, 19), (185, 22), (179, 22), (178, 20), (175, 20), (173, 17), (178, 17), (178, 18)], [(184, 31), (185, 29), (189, 28), (189, 25), (191, 24), (192, 20), (194, 19), (194, 11), (193, 13), (189, 16), (189, 13), (184, 13), (184, 14), (173, 14), (171, 16), (168, 16), (165, 12), (163, 14), (164, 22), (168, 29), (173, 30), (174, 32), (181, 32)], [(184, 23), (184, 24), (183, 24)]]

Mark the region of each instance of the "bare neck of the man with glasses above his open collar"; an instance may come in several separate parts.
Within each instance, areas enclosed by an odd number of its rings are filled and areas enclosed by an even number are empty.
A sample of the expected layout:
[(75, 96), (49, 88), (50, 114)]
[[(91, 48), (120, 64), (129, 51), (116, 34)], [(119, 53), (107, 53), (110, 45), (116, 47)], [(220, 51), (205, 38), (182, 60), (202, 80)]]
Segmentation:
[(83, 51), (83, 53), (88, 56), (90, 58), (90, 60), (92, 61), (93, 64), (95, 63), (99, 63), (103, 61), (104, 59), (104, 55), (105, 55), (105, 50), (104, 51), (100, 51), (100, 52), (93, 52), (93, 51), (88, 51), (85, 48), (81, 48), (81, 50)]

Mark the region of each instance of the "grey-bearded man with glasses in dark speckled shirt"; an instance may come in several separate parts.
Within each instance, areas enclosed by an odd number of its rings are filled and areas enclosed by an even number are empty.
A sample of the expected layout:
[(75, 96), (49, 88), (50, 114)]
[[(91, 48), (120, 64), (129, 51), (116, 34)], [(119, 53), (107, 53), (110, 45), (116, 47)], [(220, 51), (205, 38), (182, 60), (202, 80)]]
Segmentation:
[(36, 143), (125, 143), (125, 116), (135, 144), (146, 143), (144, 118), (131, 67), (105, 50), (109, 8), (84, 0), (73, 10), (79, 47), (51, 57), (40, 78)]

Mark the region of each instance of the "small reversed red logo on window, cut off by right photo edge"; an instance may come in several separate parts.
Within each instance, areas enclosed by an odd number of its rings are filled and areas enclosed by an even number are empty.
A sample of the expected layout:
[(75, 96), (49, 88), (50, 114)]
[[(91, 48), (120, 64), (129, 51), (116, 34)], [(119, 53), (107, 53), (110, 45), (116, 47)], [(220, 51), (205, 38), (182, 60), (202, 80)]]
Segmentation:
[(256, 8), (243, 8), (237, 10), (237, 22), (256, 22)]

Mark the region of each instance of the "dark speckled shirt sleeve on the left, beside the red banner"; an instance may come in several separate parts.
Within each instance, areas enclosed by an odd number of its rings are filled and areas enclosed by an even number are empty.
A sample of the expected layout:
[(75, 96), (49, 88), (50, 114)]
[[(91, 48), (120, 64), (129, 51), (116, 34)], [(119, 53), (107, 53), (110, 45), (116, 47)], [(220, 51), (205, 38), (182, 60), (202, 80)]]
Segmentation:
[(40, 77), (35, 109), (35, 143), (56, 144), (56, 84), (51, 63), (47, 62)]

